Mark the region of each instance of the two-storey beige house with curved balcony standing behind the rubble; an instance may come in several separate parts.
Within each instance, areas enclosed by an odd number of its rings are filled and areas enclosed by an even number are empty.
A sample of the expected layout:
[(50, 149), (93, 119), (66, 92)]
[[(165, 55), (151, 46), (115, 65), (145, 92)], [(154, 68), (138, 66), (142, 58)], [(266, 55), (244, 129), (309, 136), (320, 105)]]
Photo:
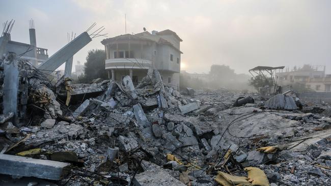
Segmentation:
[(105, 39), (101, 43), (106, 51), (108, 78), (118, 81), (129, 75), (136, 84), (152, 67), (160, 71), (164, 83), (178, 89), (180, 42), (182, 39), (170, 29)]

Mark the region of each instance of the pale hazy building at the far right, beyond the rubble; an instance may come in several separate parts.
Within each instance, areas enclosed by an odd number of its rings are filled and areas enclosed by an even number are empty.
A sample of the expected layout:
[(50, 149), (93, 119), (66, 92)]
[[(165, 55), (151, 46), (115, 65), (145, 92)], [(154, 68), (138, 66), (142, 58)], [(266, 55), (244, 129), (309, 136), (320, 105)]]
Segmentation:
[(302, 68), (275, 73), (279, 85), (298, 83), (317, 92), (331, 92), (331, 75), (325, 75), (325, 66), (313, 67), (304, 65)]

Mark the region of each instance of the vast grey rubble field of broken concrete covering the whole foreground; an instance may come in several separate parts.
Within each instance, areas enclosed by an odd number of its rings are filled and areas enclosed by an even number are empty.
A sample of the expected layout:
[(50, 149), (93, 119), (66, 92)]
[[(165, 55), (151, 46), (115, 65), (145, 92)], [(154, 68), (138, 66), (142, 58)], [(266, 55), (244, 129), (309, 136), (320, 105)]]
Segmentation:
[(275, 98), (266, 102), (258, 94), (227, 89), (186, 88), (182, 95), (153, 69), (136, 86), (130, 76), (123, 82), (70, 84), (61, 78), (51, 83), (26, 61), (11, 57), (1, 66), (18, 61), (29, 87), (25, 107), (17, 107), (25, 113), (19, 122), (13, 120), (17, 112), (0, 115), (0, 173), (15, 181), (330, 185), (328, 105), (312, 113), (304, 112), (310, 108), (306, 104), (301, 111), (273, 110), (265, 104), (277, 104)]

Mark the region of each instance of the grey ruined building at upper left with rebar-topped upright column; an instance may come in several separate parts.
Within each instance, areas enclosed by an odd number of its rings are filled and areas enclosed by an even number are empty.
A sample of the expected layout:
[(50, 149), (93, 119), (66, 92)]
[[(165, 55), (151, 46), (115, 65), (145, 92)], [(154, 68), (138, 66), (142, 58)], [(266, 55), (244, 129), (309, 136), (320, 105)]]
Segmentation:
[[(37, 67), (39, 64), (48, 59), (47, 49), (37, 47), (36, 29), (31, 26), (29, 29), (30, 44), (12, 41), (10, 34), (7, 33), (9, 41), (6, 45), (5, 53), (13, 52), (17, 55), (22, 54), (21, 58), (29, 60), (32, 65)], [(5, 37), (5, 36), (4, 36)]]

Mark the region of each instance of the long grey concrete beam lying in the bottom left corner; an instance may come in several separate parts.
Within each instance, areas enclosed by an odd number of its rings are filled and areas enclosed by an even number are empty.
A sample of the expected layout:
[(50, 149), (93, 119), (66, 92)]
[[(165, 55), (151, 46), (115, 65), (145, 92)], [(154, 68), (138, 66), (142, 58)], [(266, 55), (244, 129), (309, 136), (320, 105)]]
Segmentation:
[(0, 174), (60, 180), (69, 163), (0, 154)]

